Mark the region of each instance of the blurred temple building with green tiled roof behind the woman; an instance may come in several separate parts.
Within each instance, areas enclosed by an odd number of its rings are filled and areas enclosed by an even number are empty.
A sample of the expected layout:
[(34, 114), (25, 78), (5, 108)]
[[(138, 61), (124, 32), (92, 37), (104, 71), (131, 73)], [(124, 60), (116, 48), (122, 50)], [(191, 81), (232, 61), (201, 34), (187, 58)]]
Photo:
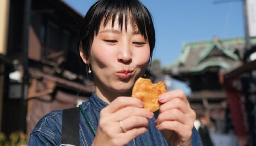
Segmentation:
[[(256, 38), (251, 39), (256, 44)], [(243, 38), (218, 39), (186, 43), (179, 60), (167, 66), (164, 73), (191, 87), (188, 95), (197, 115), (208, 115), (217, 132), (233, 130), (221, 74), (242, 65)]]

